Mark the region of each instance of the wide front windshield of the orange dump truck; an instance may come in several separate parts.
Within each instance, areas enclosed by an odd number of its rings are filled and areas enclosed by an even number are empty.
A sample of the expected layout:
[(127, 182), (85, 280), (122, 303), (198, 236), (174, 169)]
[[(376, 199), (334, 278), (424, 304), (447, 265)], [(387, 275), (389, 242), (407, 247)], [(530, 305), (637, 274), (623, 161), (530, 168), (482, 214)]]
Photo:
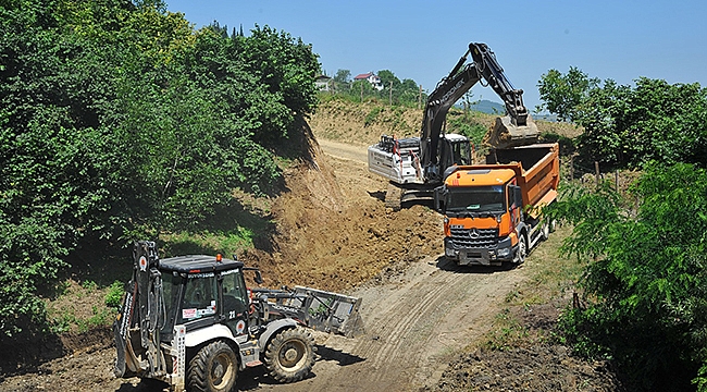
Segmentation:
[(445, 201), (445, 209), (449, 212), (506, 210), (506, 196), (501, 185), (450, 188)]

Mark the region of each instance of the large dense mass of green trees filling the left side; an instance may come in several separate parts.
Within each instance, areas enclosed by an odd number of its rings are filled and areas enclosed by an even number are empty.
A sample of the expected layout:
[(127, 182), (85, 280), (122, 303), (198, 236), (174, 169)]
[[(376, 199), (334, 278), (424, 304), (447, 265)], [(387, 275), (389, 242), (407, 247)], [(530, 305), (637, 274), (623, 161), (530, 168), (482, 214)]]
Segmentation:
[(318, 57), (268, 26), (224, 32), (159, 0), (0, 4), (0, 339), (47, 330), (38, 295), (75, 248), (273, 192)]

